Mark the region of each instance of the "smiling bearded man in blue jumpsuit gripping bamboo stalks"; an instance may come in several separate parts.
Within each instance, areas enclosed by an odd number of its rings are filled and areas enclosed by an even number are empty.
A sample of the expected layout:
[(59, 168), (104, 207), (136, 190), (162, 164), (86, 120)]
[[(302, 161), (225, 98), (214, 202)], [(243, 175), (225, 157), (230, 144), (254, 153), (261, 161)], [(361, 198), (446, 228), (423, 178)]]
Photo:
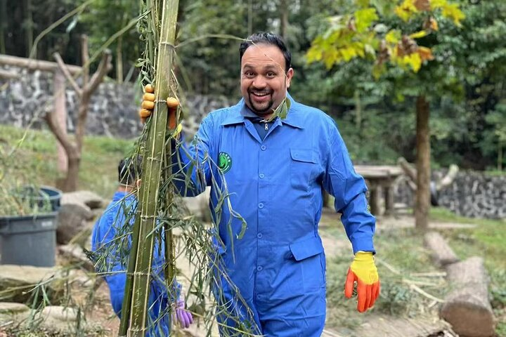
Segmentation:
[[(219, 192), (226, 190), (231, 208), (247, 222), (244, 237), (236, 239), (242, 221), (223, 203), (219, 252), (245, 303), (235, 301), (226, 282), (221, 282), (217, 300), (236, 315), (247, 317), (249, 309), (264, 336), (319, 337), (326, 302), (325, 253), (318, 235), (322, 189), (335, 197), (355, 254), (345, 296), (351, 297), (355, 283), (357, 308), (364, 312), (380, 292), (367, 188), (335, 121), (287, 93), (294, 70), (283, 40), (271, 33), (253, 34), (240, 45), (240, 59), (242, 100), (211, 112), (191, 145), (179, 147), (183, 170), (194, 167), (190, 161), (200, 167), (198, 175), (193, 172), (193, 190), (181, 185), (184, 179), (177, 187), (181, 194), (197, 194), (212, 186), (212, 209)], [(285, 98), (291, 102), (286, 118), (272, 119)], [(153, 100), (153, 94), (145, 94), (142, 118), (150, 116)], [(233, 329), (221, 334), (231, 335)]]

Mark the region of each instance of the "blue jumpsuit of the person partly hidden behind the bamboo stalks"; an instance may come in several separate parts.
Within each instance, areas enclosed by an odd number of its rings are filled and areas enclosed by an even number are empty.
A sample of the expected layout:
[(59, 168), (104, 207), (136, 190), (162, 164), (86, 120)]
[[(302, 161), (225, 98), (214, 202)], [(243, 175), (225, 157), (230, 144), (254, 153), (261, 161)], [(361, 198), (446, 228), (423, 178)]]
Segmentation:
[[(91, 251), (102, 256), (102, 259), (96, 261), (96, 270), (97, 272), (110, 273), (106, 274), (104, 278), (109, 286), (112, 309), (120, 318), (136, 206), (137, 199), (133, 194), (115, 192), (112, 201), (97, 220), (91, 234)], [(129, 221), (130, 226), (124, 226), (125, 221)], [(112, 246), (115, 248), (122, 246), (123, 252), (119, 252), (118, 249), (110, 249)], [(150, 311), (146, 336), (162, 337), (169, 336), (169, 317), (164, 315), (160, 319), (160, 313), (167, 310), (169, 303), (171, 303), (169, 298), (179, 298), (181, 285), (176, 284), (173, 293), (168, 293), (167, 287), (164, 285), (164, 251), (157, 249), (157, 246), (155, 246), (153, 253), (153, 277), (151, 278)], [(105, 252), (108, 253), (107, 256), (104, 256)], [(157, 319), (160, 320), (157, 321)]]

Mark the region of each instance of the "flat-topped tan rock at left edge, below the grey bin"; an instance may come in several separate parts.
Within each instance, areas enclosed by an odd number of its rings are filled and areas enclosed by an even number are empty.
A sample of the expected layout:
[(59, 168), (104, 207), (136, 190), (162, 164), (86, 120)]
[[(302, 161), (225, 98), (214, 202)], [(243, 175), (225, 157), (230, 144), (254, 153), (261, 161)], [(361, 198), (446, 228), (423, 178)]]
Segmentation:
[[(51, 281), (48, 281), (49, 279)], [(44, 286), (51, 303), (62, 298), (65, 282), (58, 277), (55, 268), (0, 265), (0, 300), (25, 303), (34, 295), (32, 289), (44, 281), (48, 281)]]

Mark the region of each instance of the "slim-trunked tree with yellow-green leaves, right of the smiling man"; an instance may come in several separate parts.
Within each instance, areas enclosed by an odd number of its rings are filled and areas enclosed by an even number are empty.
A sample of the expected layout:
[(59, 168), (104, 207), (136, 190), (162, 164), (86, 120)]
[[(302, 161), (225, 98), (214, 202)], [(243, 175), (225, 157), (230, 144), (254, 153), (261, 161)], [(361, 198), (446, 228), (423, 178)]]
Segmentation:
[(448, 25), (448, 19), (460, 25), (465, 15), (458, 4), (446, 0), (357, 0), (354, 4), (353, 11), (329, 18), (327, 31), (313, 40), (307, 57), (309, 62), (323, 62), (329, 70), (355, 58), (374, 61), (372, 74), (389, 79), (391, 92), (400, 100), (416, 97), (415, 220), (418, 228), (425, 229), (430, 206), (429, 101), (442, 93), (461, 93), (455, 62), (442, 54), (436, 58), (433, 51), (438, 51), (438, 37), (444, 35), (439, 26)]

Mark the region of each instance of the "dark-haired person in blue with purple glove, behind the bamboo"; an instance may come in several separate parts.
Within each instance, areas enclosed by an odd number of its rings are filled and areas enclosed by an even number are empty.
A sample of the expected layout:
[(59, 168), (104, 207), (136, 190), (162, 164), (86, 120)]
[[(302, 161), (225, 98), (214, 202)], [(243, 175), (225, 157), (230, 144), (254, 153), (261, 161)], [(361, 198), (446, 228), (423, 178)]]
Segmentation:
[[(138, 177), (141, 176), (141, 158), (127, 158), (119, 161), (119, 187), (103, 215), (97, 220), (91, 234), (91, 251), (97, 260), (95, 267), (98, 272), (105, 273), (105, 282), (110, 290), (112, 309), (121, 317), (126, 266), (131, 246), (131, 229), (134, 225), (137, 199)], [(129, 223), (129, 226), (125, 226)], [(162, 247), (164, 245), (162, 244)], [(184, 308), (184, 300), (179, 300), (181, 285), (176, 284), (171, 293), (164, 284), (163, 249), (154, 249), (151, 292), (149, 298), (150, 312), (148, 316), (148, 332), (146, 336), (169, 336), (169, 317), (160, 317), (176, 298), (176, 315), (179, 324), (188, 327), (193, 322), (190, 312)]]

